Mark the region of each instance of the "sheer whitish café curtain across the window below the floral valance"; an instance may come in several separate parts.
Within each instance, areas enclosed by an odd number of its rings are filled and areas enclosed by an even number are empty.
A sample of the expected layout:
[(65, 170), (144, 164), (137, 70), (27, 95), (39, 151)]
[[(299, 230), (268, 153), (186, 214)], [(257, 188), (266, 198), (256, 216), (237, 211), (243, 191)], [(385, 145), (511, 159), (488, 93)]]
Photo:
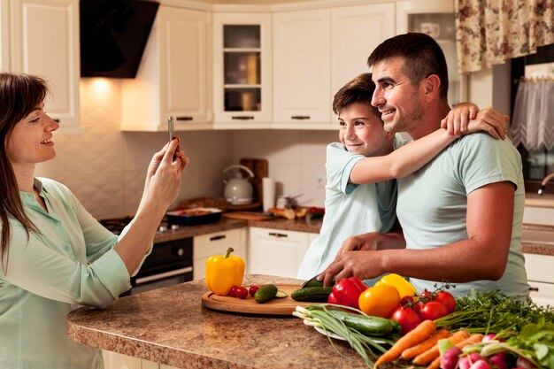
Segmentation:
[(527, 150), (554, 147), (554, 79), (519, 81), (508, 136)]

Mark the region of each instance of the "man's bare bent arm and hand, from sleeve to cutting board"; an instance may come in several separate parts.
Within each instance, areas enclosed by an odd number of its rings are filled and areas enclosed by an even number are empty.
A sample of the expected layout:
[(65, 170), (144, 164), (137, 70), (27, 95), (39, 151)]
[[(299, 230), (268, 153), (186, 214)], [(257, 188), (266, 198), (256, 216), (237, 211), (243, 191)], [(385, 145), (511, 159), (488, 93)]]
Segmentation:
[(430, 250), (344, 251), (320, 274), (326, 285), (335, 279), (375, 278), (398, 273), (428, 281), (462, 283), (500, 279), (512, 239), (514, 185), (503, 181), (473, 190), (467, 202), (463, 241)]

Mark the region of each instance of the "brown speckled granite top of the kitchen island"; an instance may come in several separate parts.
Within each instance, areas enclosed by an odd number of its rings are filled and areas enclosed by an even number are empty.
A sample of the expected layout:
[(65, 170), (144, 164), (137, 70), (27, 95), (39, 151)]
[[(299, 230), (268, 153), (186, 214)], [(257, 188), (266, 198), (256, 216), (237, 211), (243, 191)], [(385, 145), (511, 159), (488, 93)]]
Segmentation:
[[(243, 285), (300, 284), (245, 275)], [(212, 311), (201, 305), (204, 280), (121, 297), (107, 309), (67, 316), (73, 341), (179, 368), (367, 368), (345, 342), (335, 345), (301, 319)]]

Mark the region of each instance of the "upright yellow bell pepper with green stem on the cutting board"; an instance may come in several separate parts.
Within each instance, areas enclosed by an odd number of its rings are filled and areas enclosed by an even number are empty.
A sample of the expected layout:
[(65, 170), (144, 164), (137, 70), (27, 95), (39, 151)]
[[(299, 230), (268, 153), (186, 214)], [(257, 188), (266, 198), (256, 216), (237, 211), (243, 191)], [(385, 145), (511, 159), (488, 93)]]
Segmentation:
[(206, 260), (206, 287), (214, 294), (227, 296), (233, 286), (242, 286), (244, 260), (231, 255), (233, 248), (225, 255), (213, 255)]

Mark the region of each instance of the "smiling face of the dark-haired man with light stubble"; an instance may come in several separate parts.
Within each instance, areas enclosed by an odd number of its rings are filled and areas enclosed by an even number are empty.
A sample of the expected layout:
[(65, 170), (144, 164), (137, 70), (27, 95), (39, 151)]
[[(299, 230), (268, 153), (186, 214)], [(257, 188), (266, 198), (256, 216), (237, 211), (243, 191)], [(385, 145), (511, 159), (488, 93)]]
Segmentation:
[(403, 58), (389, 58), (372, 65), (375, 92), (372, 105), (381, 111), (388, 132), (408, 132), (423, 119), (421, 88), (413, 86), (402, 70)]

